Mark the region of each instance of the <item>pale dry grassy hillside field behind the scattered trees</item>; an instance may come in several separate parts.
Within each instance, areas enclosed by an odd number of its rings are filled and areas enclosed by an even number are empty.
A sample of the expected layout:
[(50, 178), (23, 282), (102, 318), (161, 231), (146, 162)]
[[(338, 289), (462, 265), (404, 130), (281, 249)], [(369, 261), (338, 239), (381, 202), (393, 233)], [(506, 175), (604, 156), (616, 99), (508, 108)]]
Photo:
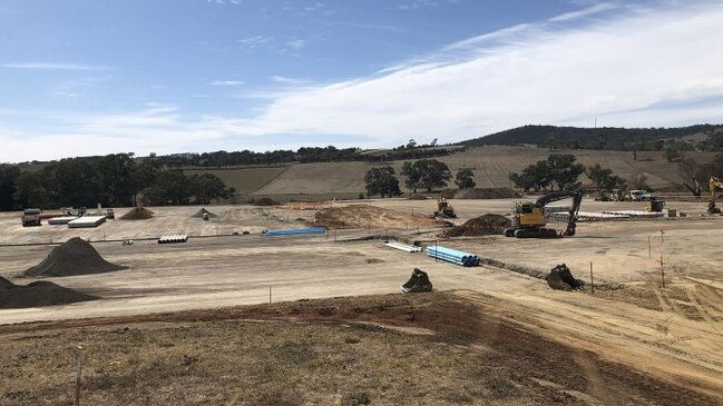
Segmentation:
[[(647, 177), (653, 188), (680, 187), (681, 176), (676, 162), (668, 162), (663, 152), (638, 152), (633, 159), (631, 151), (557, 150), (557, 154), (574, 154), (578, 161), (592, 166), (600, 164), (625, 179), (638, 175)], [(487, 147), (475, 148), (448, 157), (437, 158), (446, 162), (455, 172), (460, 168), (471, 168), (478, 187), (508, 187), (509, 174), (520, 171), (526, 166), (546, 159), (550, 154), (544, 148)], [(686, 158), (698, 162), (710, 161), (714, 152), (684, 152)], [(389, 162), (397, 174), (401, 172), (403, 161)], [(359, 194), (364, 190), (364, 174), (381, 164), (329, 162), (294, 165), (281, 176), (260, 188), (255, 195), (323, 195)], [(450, 186), (452, 186), (450, 184)], [(403, 185), (402, 185), (403, 187)]]

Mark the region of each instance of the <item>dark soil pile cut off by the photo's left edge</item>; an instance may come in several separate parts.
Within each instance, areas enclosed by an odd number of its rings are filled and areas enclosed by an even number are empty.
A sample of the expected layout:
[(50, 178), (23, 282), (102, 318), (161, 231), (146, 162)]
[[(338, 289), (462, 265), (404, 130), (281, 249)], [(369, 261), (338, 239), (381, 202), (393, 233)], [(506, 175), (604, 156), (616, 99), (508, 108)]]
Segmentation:
[(38, 280), (26, 286), (0, 277), (0, 309), (19, 309), (95, 300), (97, 297), (65, 288), (51, 281)]

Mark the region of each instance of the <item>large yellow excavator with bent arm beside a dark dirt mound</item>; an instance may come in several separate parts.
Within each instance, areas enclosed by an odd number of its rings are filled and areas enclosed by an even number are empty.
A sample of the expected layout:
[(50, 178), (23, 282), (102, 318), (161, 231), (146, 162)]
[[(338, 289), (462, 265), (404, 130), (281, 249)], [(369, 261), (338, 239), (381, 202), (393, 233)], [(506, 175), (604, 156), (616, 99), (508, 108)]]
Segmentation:
[[(545, 206), (553, 201), (573, 198), (573, 205), (568, 211), (567, 228), (559, 231), (554, 228), (546, 228), (547, 218)], [(578, 190), (564, 190), (541, 196), (536, 201), (517, 201), (512, 207), (512, 227), (506, 228), (505, 237), (517, 238), (557, 238), (571, 237), (577, 226), (577, 212), (583, 202), (583, 194)]]

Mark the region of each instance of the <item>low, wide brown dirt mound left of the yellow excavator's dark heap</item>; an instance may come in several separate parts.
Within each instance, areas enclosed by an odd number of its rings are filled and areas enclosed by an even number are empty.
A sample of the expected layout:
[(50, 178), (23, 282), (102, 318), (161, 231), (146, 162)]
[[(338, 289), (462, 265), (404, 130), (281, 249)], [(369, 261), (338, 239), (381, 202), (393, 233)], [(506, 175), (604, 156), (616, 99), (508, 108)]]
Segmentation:
[(328, 229), (344, 228), (413, 228), (430, 226), (433, 220), (370, 205), (331, 207), (316, 211), (314, 226)]

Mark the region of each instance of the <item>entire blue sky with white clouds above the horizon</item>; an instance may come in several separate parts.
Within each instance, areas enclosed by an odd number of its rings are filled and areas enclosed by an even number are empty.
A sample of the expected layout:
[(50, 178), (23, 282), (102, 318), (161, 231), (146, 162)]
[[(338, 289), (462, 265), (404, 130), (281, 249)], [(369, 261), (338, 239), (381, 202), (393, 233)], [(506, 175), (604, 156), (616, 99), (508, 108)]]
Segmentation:
[(723, 122), (721, 0), (0, 0), (0, 161)]

